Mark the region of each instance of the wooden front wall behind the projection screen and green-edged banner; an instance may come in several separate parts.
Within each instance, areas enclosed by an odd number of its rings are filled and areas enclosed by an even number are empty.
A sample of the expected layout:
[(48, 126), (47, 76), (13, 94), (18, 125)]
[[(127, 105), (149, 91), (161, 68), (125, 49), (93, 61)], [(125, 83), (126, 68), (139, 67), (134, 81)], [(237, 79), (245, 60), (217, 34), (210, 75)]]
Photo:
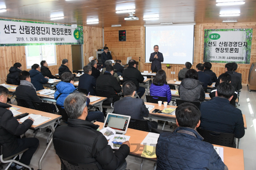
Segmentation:
[[(248, 72), (251, 63), (256, 61), (256, 23), (207, 23), (195, 25), (195, 44), (194, 44), (194, 63), (192, 68), (196, 68), (196, 64), (203, 63), (204, 55), (204, 29), (222, 29), (222, 28), (253, 28), (252, 51), (250, 64), (238, 64), (237, 72), (242, 73), (242, 84), (248, 84)], [(118, 30), (126, 30), (126, 42), (118, 41)], [(116, 54), (117, 59), (126, 63), (127, 57), (132, 57), (136, 61), (141, 61), (139, 67), (141, 71), (150, 70), (151, 64), (145, 63), (145, 27), (108, 27), (104, 28), (104, 44), (107, 44), (109, 50)], [(153, 47), (152, 47), (153, 51)], [(161, 51), (160, 51), (161, 52)], [(115, 59), (114, 55), (112, 55)], [(184, 61), (185, 64), (185, 61)], [(166, 68), (166, 64), (162, 64), (162, 69), (166, 71), (167, 78), (178, 79), (178, 72), (184, 68), (184, 64), (170, 64), (171, 68)], [(212, 70), (217, 76), (224, 73), (224, 63), (212, 63)], [(175, 74), (171, 74), (175, 72)]]

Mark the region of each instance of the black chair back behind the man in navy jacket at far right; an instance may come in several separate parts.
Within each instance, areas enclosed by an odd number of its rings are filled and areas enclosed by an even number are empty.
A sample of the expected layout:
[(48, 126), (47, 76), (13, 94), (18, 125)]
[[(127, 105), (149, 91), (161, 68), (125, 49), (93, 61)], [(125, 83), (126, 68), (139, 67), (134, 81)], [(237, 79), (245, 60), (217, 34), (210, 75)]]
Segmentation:
[(220, 133), (197, 128), (196, 131), (204, 138), (203, 141), (213, 145), (236, 148), (234, 143), (234, 133)]

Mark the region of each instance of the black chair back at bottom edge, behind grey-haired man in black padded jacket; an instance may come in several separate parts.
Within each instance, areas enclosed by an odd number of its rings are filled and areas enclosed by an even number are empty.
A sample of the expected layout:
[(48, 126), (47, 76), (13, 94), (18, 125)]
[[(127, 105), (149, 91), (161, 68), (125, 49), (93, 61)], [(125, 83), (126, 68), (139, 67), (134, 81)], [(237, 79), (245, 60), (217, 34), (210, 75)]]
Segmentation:
[(60, 158), (61, 170), (99, 170), (96, 164), (81, 164), (75, 162), (68, 162)]

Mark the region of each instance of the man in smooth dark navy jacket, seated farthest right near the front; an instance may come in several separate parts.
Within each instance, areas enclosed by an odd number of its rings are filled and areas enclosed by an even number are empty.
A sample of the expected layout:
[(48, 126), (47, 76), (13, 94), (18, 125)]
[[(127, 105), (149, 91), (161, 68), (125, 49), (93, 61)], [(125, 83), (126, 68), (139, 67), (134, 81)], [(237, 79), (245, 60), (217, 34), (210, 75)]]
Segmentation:
[(222, 133), (234, 133), (236, 138), (244, 136), (242, 111), (230, 104), (235, 89), (228, 82), (218, 85), (216, 97), (200, 105), (201, 128)]

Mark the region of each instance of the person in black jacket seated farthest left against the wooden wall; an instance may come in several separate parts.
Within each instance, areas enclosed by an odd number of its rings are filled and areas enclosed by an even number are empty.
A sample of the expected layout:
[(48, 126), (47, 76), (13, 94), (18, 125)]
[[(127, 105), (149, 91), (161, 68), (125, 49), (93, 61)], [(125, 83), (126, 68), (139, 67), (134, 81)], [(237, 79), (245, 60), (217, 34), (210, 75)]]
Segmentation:
[(22, 72), (22, 66), (20, 63), (14, 63), (9, 69), (9, 74), (7, 74), (6, 81), (13, 85), (20, 85), (19, 74)]

